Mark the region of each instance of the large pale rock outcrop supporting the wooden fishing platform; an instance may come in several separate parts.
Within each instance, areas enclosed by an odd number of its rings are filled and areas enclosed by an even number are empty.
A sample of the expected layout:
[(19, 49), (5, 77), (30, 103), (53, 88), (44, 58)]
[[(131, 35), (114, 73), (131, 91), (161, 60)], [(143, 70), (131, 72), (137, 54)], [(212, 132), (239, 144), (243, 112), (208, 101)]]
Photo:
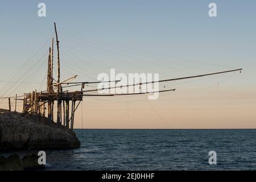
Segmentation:
[(48, 119), (0, 109), (0, 150), (76, 148), (80, 141), (75, 132)]

